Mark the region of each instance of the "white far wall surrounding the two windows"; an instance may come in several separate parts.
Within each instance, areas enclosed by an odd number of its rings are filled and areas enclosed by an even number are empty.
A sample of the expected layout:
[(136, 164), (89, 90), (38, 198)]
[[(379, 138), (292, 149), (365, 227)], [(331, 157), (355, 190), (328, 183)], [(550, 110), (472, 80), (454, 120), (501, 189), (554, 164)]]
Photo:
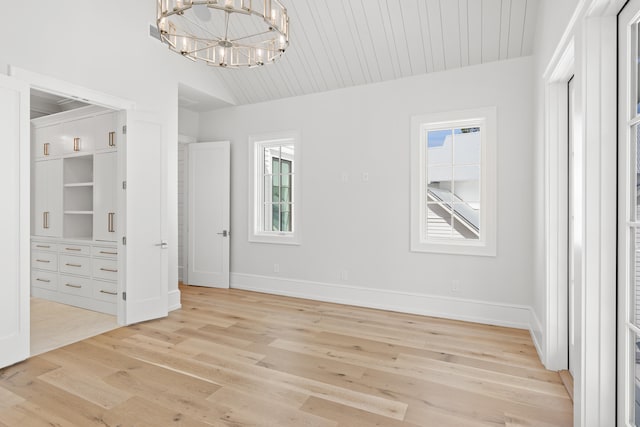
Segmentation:
[[(527, 327), (532, 66), (522, 58), (202, 114), (200, 140), (232, 142), (232, 286)], [(411, 116), (485, 106), (498, 111), (498, 256), (410, 252)], [(302, 244), (250, 244), (248, 136), (286, 130), (302, 136)], [(495, 305), (465, 313), (467, 299)]]

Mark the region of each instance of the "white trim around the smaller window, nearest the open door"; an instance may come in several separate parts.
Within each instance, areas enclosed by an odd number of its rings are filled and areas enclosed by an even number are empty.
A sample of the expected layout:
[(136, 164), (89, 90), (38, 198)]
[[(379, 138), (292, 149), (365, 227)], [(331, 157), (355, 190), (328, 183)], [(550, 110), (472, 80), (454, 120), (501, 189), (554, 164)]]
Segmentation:
[[(261, 213), (263, 194), (259, 189), (262, 187), (262, 174), (258, 173), (262, 167), (258, 164), (261, 155), (259, 150), (269, 145), (282, 145), (283, 143), (294, 146), (293, 156), (293, 231), (270, 232), (261, 230)], [(249, 236), (252, 243), (273, 243), (282, 245), (300, 245), (300, 214), (302, 212), (302, 191), (300, 179), (301, 149), (300, 133), (297, 131), (271, 132), (249, 136)]]

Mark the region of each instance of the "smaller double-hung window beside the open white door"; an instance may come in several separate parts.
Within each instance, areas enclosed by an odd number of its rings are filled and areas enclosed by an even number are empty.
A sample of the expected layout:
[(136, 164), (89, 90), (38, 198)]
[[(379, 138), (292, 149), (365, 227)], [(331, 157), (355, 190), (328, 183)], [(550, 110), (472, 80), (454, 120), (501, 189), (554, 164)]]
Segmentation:
[(299, 244), (300, 147), (295, 132), (249, 138), (249, 240)]

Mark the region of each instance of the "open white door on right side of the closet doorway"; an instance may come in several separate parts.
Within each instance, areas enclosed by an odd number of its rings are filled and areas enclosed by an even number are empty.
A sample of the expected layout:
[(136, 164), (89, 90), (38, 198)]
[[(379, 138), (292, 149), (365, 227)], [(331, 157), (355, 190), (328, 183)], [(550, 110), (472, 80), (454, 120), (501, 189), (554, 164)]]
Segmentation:
[[(125, 323), (132, 324), (168, 312), (166, 139), (155, 116), (127, 111), (124, 150), (126, 190), (124, 224), (126, 245), (119, 240), (120, 283), (126, 292)], [(122, 158), (121, 158), (122, 159)], [(122, 199), (121, 199), (122, 200)], [(119, 233), (120, 234), (120, 233)], [(126, 263), (123, 262), (126, 260)]]

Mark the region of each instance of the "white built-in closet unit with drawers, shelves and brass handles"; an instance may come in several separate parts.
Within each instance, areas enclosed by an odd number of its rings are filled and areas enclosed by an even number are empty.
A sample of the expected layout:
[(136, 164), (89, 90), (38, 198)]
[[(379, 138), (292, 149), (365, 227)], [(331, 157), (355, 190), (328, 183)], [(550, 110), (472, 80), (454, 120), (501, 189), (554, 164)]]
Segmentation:
[(86, 105), (31, 120), (31, 296), (117, 313), (120, 113)]

